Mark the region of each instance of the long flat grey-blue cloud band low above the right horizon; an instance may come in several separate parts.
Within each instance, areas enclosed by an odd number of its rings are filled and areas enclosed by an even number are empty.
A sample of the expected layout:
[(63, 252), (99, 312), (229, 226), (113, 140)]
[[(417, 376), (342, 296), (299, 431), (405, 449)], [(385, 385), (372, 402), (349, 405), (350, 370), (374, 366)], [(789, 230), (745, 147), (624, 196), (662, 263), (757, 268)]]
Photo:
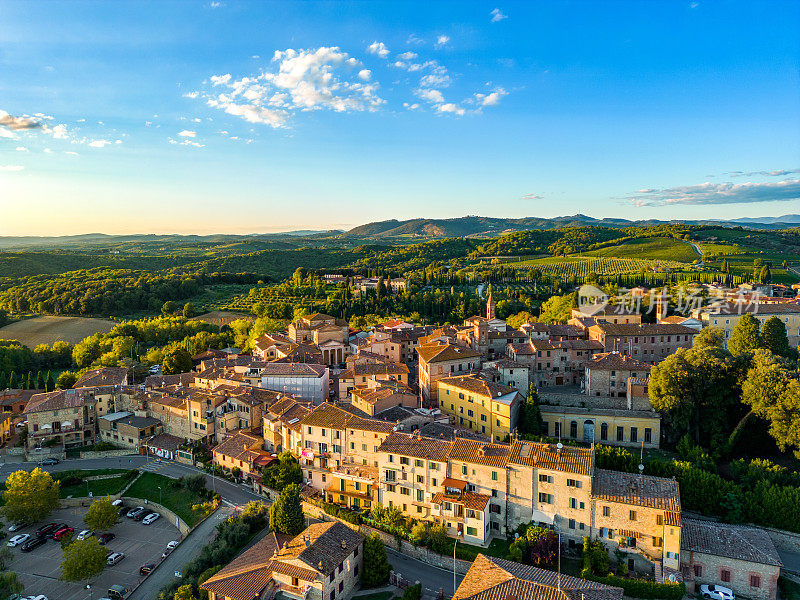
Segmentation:
[(672, 204), (750, 204), (800, 200), (800, 180), (763, 183), (701, 183), (666, 189), (647, 188), (627, 196), (636, 206)]

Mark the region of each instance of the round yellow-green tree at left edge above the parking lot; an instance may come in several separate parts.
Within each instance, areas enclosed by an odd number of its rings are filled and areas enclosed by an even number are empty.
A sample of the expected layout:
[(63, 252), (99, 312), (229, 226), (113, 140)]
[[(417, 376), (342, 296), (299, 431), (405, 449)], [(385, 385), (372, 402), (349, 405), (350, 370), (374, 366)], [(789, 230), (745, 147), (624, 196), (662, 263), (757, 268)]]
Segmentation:
[(6, 479), (2, 512), (9, 522), (41, 521), (58, 508), (59, 485), (47, 471), (15, 471)]

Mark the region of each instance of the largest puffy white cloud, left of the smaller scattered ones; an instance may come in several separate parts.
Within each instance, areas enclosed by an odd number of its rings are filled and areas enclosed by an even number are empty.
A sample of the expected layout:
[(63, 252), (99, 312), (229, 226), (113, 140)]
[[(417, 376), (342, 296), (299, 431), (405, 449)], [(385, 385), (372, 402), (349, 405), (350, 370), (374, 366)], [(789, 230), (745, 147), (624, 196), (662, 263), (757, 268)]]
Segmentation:
[(272, 69), (241, 79), (211, 77), (212, 87), (225, 89), (204, 93), (206, 103), (251, 123), (285, 127), (297, 112), (374, 111), (385, 102), (378, 84), (369, 82), (372, 72), (359, 69), (360, 61), (338, 47), (279, 50), (272, 63)]

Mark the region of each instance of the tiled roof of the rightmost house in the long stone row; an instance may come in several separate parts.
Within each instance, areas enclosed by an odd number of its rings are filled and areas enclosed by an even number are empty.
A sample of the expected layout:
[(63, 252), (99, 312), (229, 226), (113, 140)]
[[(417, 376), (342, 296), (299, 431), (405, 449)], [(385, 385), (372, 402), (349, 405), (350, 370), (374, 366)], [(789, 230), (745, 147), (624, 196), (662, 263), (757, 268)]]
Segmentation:
[(665, 477), (637, 475), (597, 469), (592, 496), (607, 502), (619, 502), (680, 513), (678, 482)]

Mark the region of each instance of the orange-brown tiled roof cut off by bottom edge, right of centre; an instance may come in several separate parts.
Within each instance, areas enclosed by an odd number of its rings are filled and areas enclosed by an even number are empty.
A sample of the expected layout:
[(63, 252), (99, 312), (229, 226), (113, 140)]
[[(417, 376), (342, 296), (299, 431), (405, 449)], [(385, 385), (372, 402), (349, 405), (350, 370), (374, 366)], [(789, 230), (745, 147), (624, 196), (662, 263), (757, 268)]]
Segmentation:
[(453, 600), (622, 600), (622, 588), (479, 554)]

